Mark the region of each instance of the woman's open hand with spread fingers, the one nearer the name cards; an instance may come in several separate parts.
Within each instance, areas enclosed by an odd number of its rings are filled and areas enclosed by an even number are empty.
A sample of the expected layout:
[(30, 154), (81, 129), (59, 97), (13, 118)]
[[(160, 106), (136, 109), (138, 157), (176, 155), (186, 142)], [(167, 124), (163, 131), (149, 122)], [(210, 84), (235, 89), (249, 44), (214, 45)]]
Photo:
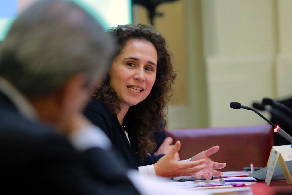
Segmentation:
[(202, 151), (195, 155), (191, 161), (197, 161), (199, 159), (204, 159), (207, 165), (206, 168), (200, 170), (199, 172), (192, 175), (192, 177), (195, 177), (197, 179), (201, 179), (204, 177), (207, 180), (210, 180), (212, 176), (219, 177), (223, 174), (221, 171), (217, 171), (215, 169), (222, 169), (226, 166), (226, 163), (217, 163), (212, 161), (209, 156), (212, 154), (215, 154), (219, 150), (219, 146), (213, 146), (212, 148)]

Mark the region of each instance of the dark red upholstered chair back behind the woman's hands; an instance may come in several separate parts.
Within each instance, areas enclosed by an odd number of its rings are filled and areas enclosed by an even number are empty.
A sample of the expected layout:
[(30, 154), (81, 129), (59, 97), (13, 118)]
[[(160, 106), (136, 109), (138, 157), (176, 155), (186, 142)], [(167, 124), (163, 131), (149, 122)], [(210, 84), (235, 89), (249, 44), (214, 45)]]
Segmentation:
[(173, 138), (174, 143), (176, 140), (181, 142), (181, 159), (188, 159), (212, 146), (220, 146), (211, 159), (227, 163), (222, 171), (240, 171), (251, 163), (255, 167), (265, 167), (273, 146), (270, 125), (168, 130), (167, 135)]

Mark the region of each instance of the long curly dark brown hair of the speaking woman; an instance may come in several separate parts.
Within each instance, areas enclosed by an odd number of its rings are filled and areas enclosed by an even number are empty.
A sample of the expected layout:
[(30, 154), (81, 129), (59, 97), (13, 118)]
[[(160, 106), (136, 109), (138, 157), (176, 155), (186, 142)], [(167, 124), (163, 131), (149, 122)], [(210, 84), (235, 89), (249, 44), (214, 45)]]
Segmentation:
[[(147, 25), (119, 25), (108, 30), (117, 39), (119, 55), (129, 40), (140, 39), (152, 43), (157, 51), (156, 80), (147, 98), (135, 106), (130, 106), (125, 118), (130, 118), (131, 127), (138, 139), (140, 158), (145, 158), (156, 148), (153, 140), (154, 131), (161, 131), (166, 126), (167, 103), (173, 94), (171, 85), (176, 77), (171, 62), (171, 52), (165, 39), (157, 31)], [(94, 97), (100, 99), (113, 114), (121, 111), (119, 100), (114, 89), (109, 84), (109, 74), (96, 89)], [(134, 123), (134, 124), (133, 124)]]

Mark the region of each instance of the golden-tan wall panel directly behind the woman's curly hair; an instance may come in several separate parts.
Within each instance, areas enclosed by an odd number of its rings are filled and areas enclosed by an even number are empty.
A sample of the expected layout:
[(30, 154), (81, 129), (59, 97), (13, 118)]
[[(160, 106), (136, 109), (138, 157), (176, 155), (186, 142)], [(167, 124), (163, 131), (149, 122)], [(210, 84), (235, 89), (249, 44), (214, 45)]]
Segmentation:
[[(165, 37), (168, 48), (173, 53), (173, 66), (177, 73), (174, 95), (171, 104), (186, 104), (186, 55), (184, 37), (183, 2), (165, 3), (157, 7), (157, 12), (163, 13), (163, 17), (156, 17), (155, 27)], [(138, 16), (137, 16), (138, 14)], [(147, 10), (143, 6), (133, 6), (133, 23), (150, 23)]]

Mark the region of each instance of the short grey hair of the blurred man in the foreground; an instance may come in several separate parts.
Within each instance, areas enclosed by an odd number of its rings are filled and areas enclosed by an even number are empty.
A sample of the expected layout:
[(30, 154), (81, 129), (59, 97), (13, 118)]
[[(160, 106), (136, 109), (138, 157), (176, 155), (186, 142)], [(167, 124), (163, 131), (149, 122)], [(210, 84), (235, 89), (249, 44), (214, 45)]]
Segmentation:
[(102, 77), (114, 46), (97, 21), (74, 3), (40, 1), (14, 21), (2, 42), (0, 76), (26, 96), (45, 96), (77, 73), (86, 73), (89, 81)]

